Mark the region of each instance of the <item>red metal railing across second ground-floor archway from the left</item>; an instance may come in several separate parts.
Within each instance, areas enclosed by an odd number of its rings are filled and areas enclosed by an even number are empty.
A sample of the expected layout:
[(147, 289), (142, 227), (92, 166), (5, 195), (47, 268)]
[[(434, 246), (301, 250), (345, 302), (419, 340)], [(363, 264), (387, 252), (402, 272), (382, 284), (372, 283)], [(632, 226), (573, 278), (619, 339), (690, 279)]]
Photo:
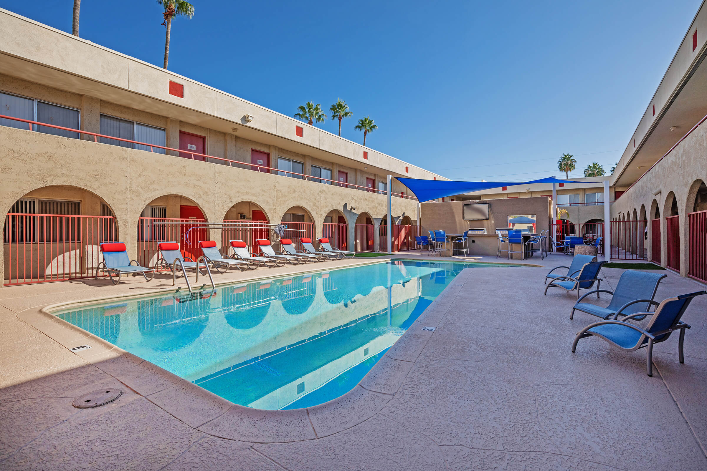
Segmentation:
[(209, 229), (203, 219), (174, 217), (140, 217), (137, 222), (137, 262), (153, 268), (158, 260), (160, 242), (178, 242), (182, 256), (193, 261), (201, 256), (199, 241), (209, 240)]

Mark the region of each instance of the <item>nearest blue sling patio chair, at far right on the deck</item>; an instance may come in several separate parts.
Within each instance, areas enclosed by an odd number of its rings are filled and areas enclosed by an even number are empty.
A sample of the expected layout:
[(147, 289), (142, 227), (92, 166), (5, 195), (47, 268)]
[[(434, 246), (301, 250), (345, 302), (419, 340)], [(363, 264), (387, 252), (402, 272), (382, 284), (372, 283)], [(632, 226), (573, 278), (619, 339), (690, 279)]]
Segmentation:
[[(674, 330), (680, 330), (680, 337), (677, 342), (677, 353), (680, 363), (685, 362), (683, 344), (685, 340), (685, 329), (690, 326), (680, 320), (689, 306), (692, 298), (707, 294), (706, 291), (699, 291), (690, 294), (681, 294), (677, 297), (663, 299), (658, 304), (655, 312), (638, 312), (624, 317), (621, 321), (599, 321), (586, 326), (575, 337), (572, 343), (572, 352), (577, 349), (577, 342), (581, 338), (588, 338), (592, 335), (606, 340), (614, 347), (619, 347), (626, 352), (633, 352), (645, 347), (645, 374), (653, 376), (653, 345), (665, 342)], [(634, 326), (626, 322), (630, 318), (653, 316), (645, 329)]]

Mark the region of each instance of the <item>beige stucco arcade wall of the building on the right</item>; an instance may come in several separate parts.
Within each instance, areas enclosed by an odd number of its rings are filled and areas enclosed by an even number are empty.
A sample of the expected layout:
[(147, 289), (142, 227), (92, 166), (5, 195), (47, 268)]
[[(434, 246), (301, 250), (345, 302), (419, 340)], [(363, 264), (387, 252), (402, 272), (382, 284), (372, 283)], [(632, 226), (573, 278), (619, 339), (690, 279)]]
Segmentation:
[[(680, 275), (686, 276), (689, 268), (689, 230), (687, 224), (687, 214), (692, 212), (695, 191), (692, 188), (696, 180), (701, 179), (707, 182), (707, 124), (701, 124), (689, 136), (677, 145), (672, 152), (667, 154), (655, 167), (646, 172), (641, 179), (638, 179), (631, 188), (626, 191), (612, 205), (612, 220), (624, 217), (627, 214), (633, 215), (635, 210), (641, 214), (641, 207), (645, 207), (650, 221), (653, 214), (650, 212), (653, 201), (660, 209), (660, 234), (662, 246), (660, 249), (661, 265), (665, 266), (667, 261), (667, 244), (665, 216), (666, 199), (672, 191), (677, 199), (679, 211), (680, 227)], [(692, 190), (692, 191), (691, 191)], [(653, 195), (660, 191), (657, 195)], [(670, 210), (670, 208), (668, 208)], [(668, 214), (669, 215), (669, 214)], [(648, 230), (648, 254), (652, 253), (653, 236)]]

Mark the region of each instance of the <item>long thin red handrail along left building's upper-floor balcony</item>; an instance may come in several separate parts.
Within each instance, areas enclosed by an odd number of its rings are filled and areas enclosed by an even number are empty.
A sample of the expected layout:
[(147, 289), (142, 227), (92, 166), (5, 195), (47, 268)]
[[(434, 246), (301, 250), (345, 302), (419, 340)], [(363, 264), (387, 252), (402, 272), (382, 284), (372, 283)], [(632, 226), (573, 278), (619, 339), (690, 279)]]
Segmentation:
[[(350, 184), (350, 183), (341, 184), (341, 182), (336, 181), (336, 180), (329, 180), (329, 179), (320, 178), (320, 177), (312, 177), (311, 175), (305, 175), (305, 174), (300, 174), (300, 173), (296, 173), (296, 172), (285, 172), (283, 170), (278, 170), (273, 167), (266, 167), (264, 165), (253, 165), (253, 164), (250, 164), (247, 162), (240, 162), (240, 160), (230, 160), (230, 159), (225, 159), (223, 157), (214, 157), (214, 155), (199, 154), (196, 152), (185, 152), (184, 150), (165, 147), (164, 145), (150, 144), (150, 143), (144, 143), (144, 142), (140, 142), (140, 141), (132, 141), (131, 139), (117, 138), (115, 136), (106, 136), (105, 134), (91, 133), (89, 131), (81, 131), (80, 129), (65, 128), (64, 126), (56, 126), (54, 124), (41, 123), (40, 121), (30, 121), (29, 119), (21, 119), (21, 118), (6, 116), (4, 114), (0, 114), (0, 118), (12, 119), (14, 121), (21, 121), (23, 123), (27, 123), (30, 131), (33, 131), (32, 125), (37, 124), (39, 126), (45, 126), (45, 127), (54, 128), (54, 129), (63, 129), (64, 131), (72, 131), (75, 133), (85, 134), (86, 136), (93, 136), (93, 142), (95, 142), (95, 143), (98, 143), (98, 138), (106, 138), (106, 139), (111, 139), (112, 141), (121, 141), (121, 142), (127, 142), (127, 143), (132, 143), (132, 144), (145, 145), (146, 147), (150, 148), (150, 152), (154, 152), (155, 148), (163, 149), (165, 151), (171, 150), (175, 153), (178, 153), (177, 155), (180, 155), (180, 157), (183, 157), (184, 155), (191, 155), (192, 160), (214, 159), (214, 160), (219, 160), (221, 162), (224, 162), (224, 165), (228, 165), (230, 167), (235, 166), (235, 167), (239, 167), (239, 168), (243, 168), (243, 169), (254, 170), (255, 172), (266, 172), (267, 171), (268, 173), (272, 173), (272, 174), (277, 174), (278, 172), (283, 172), (283, 173), (286, 173), (288, 176), (296, 175), (297, 177), (302, 177), (303, 179), (308, 180), (308, 181), (317, 181), (320, 183), (327, 182), (327, 184), (330, 184), (332, 186), (346, 186), (351, 189), (357, 189), (357, 190), (361, 190), (361, 191), (370, 191), (370, 189), (367, 186), (355, 185), (355, 184)], [(202, 157), (202, 158), (197, 159), (195, 157)], [(397, 198), (406, 198), (406, 199), (415, 200), (415, 201), (417, 200), (417, 198), (414, 198), (409, 195), (405, 195), (403, 193), (391, 193), (391, 194), (392, 194), (392, 196), (396, 196)]]

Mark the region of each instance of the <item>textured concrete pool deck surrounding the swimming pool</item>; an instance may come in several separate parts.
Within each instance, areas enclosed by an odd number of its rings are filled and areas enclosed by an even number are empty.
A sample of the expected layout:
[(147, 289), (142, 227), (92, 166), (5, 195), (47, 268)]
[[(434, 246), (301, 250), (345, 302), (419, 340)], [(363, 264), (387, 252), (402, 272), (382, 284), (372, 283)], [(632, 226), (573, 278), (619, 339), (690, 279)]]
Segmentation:
[[(396, 255), (410, 257), (422, 258)], [(215, 279), (279, 278), (382, 259)], [(527, 262), (554, 267), (568, 257)], [(351, 393), (294, 411), (232, 405), (100, 342), (76, 354), (67, 346), (87, 343), (86, 336), (62, 337), (65, 326), (41, 311), (168, 290), (171, 277), (6, 287), (0, 469), (706, 470), (707, 296), (684, 316), (692, 326), (685, 363), (677, 361), (674, 335), (656, 345), (648, 377), (643, 350), (620, 352), (591, 338), (571, 353), (575, 333), (597, 318), (577, 313), (571, 321), (575, 296), (564, 290), (543, 296), (548, 270), (464, 270)], [(615, 287), (623, 271), (604, 268), (602, 287)], [(655, 299), (704, 288), (661, 273), (668, 278)], [(95, 409), (71, 405), (104, 387), (123, 394)]]

